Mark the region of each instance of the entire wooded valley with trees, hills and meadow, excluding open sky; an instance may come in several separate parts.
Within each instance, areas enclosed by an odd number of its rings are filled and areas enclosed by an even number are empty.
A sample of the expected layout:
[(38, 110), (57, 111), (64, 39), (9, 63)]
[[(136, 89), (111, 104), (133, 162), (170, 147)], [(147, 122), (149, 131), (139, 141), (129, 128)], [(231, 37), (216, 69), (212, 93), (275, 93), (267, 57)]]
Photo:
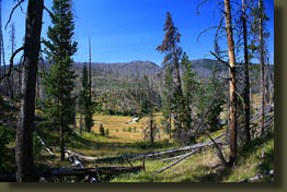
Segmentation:
[[(197, 2), (199, 16), (209, 2)], [(46, 8), (44, 0), (14, 0), (2, 21), (0, 0), (0, 181), (274, 181), (265, 1), (219, 2), (218, 26), (197, 32), (198, 40), (215, 32), (214, 50), (206, 50), (213, 59), (190, 59), (167, 10), (158, 65), (95, 62), (90, 36), (88, 59), (74, 61), (73, 1)], [(18, 44), (16, 9), (26, 10)], [(45, 37), (43, 12), (51, 22)]]

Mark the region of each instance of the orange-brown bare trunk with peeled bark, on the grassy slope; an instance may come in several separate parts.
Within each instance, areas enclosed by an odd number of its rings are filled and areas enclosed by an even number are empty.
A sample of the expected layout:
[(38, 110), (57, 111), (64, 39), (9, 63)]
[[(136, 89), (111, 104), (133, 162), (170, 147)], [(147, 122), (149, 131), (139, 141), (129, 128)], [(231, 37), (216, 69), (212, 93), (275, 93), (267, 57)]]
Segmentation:
[(230, 75), (230, 156), (229, 165), (232, 165), (237, 158), (237, 96), (236, 96), (236, 56), (234, 56), (234, 41), (232, 34), (232, 23), (231, 23), (231, 9), (230, 0), (225, 0), (225, 11), (226, 11), (226, 29), (227, 29), (227, 40), (228, 40), (228, 55), (229, 55), (229, 75)]

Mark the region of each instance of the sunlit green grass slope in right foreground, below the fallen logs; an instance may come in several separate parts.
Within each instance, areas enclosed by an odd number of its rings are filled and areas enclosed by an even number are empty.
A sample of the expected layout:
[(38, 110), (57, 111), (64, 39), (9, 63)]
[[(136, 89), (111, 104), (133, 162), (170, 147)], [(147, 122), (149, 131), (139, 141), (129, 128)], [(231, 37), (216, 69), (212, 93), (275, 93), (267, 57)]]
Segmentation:
[[(249, 145), (239, 148), (237, 166), (233, 168), (219, 166), (215, 151), (207, 149), (205, 153), (196, 154), (156, 176), (151, 176), (151, 173), (168, 166), (171, 161), (168, 164), (147, 160), (146, 171), (138, 175), (122, 175), (114, 178), (112, 182), (238, 182), (256, 175), (263, 143), (263, 139), (256, 139)], [(274, 169), (273, 134), (268, 135), (265, 148), (262, 171)], [(223, 154), (227, 158), (228, 149), (225, 149)], [(140, 161), (136, 164), (140, 165)], [(271, 181), (271, 178), (261, 181)]]

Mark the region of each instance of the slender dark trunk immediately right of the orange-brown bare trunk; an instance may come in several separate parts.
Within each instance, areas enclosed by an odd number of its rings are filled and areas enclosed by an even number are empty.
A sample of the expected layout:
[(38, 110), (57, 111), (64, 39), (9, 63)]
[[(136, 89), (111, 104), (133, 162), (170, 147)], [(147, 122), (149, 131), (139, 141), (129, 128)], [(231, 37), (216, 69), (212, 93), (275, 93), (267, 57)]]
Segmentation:
[(245, 119), (245, 143), (250, 142), (250, 80), (249, 80), (249, 52), (248, 52), (248, 27), (246, 27), (246, 13), (245, 0), (242, 0), (242, 24), (243, 24), (243, 40), (244, 40), (244, 119)]

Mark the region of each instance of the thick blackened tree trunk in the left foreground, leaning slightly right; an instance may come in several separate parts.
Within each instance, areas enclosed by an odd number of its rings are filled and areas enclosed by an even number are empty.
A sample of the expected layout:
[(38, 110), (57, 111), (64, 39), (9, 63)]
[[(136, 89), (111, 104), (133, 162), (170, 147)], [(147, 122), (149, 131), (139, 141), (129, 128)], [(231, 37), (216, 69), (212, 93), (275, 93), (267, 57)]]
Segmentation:
[(19, 124), (15, 140), (18, 182), (34, 181), (33, 130), (35, 118), (35, 83), (41, 45), (44, 0), (28, 0), (24, 44)]

